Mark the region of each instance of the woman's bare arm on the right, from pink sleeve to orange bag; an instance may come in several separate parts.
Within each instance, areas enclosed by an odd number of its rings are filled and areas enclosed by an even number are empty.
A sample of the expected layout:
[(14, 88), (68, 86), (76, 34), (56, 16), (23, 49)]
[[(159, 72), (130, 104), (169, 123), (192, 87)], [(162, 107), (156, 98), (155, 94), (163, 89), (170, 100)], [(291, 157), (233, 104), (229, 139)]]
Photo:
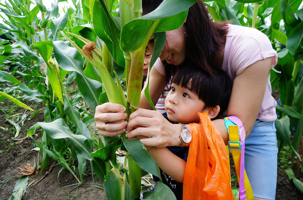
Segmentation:
[[(271, 57), (259, 60), (238, 74), (234, 80), (227, 116), (237, 116), (243, 123), (246, 138), (251, 132), (263, 102), (267, 78), (271, 67)], [(221, 133), (225, 144), (229, 138), (223, 119), (213, 121)]]

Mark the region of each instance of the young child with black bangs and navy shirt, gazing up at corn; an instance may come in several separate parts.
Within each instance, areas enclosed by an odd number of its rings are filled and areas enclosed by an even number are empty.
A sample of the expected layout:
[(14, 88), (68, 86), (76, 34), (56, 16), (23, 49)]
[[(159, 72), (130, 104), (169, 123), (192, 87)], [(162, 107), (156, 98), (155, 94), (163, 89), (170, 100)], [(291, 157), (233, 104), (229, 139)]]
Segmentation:
[[(214, 76), (209, 76), (195, 65), (185, 66), (171, 81), (163, 116), (174, 124), (199, 123), (198, 113), (205, 112), (215, 119), (227, 109), (231, 87), (231, 79), (219, 68)], [(146, 149), (160, 167), (163, 183), (181, 200), (189, 147)], [(159, 181), (158, 177), (154, 176), (154, 181)]]

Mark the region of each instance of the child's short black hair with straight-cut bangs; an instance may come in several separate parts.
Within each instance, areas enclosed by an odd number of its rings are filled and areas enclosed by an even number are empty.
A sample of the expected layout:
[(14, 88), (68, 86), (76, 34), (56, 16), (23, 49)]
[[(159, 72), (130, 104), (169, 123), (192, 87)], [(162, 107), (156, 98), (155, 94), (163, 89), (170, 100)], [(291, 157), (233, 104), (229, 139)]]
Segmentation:
[(220, 106), (218, 116), (227, 109), (231, 95), (231, 78), (220, 68), (213, 68), (213, 75), (196, 65), (187, 65), (181, 68), (172, 78), (171, 83), (184, 87), (198, 95), (205, 103), (206, 108)]

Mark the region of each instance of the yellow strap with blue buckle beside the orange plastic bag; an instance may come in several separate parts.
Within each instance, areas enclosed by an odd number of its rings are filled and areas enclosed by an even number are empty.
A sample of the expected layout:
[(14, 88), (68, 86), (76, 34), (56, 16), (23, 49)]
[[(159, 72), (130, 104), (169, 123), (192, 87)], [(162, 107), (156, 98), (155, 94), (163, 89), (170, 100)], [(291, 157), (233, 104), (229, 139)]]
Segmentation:
[[(240, 141), (239, 139), (239, 130), (237, 125), (229, 125), (228, 126), (228, 132), (229, 132), (229, 140), (230, 141)], [(239, 148), (238, 143), (231, 143), (231, 147)], [(240, 183), (240, 160), (241, 160), (241, 150), (240, 149), (231, 149), (231, 154), (234, 160), (235, 169), (237, 173), (238, 183)], [(246, 200), (253, 200), (254, 194), (251, 189), (251, 185), (249, 183), (248, 177), (246, 175), (246, 171), (244, 170), (244, 189), (246, 189)]]

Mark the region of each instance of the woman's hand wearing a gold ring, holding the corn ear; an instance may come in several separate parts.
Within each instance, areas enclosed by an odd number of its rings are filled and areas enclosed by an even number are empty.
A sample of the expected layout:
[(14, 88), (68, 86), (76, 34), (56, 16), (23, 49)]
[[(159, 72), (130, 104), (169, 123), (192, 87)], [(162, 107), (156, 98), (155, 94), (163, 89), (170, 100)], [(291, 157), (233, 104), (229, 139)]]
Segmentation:
[(126, 131), (127, 114), (125, 107), (117, 103), (104, 103), (96, 107), (95, 120), (99, 134), (103, 136), (121, 135)]

